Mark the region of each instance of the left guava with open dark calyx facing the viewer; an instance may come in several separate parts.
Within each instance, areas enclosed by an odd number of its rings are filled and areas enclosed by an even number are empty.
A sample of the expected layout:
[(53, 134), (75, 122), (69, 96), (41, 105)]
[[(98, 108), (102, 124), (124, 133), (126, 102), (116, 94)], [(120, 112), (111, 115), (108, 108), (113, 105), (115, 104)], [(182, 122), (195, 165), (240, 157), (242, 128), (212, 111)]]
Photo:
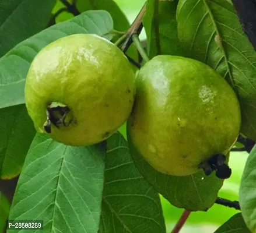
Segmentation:
[(44, 47), (25, 84), (37, 132), (72, 146), (110, 137), (129, 117), (135, 73), (123, 52), (96, 34), (73, 34)]

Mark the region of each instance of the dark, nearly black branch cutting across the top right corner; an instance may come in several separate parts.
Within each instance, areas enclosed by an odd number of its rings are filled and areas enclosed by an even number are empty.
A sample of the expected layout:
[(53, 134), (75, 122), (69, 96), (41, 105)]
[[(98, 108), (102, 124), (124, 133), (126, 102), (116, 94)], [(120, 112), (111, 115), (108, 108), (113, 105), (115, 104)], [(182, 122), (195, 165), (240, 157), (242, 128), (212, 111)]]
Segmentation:
[(232, 0), (244, 32), (256, 51), (256, 1)]

